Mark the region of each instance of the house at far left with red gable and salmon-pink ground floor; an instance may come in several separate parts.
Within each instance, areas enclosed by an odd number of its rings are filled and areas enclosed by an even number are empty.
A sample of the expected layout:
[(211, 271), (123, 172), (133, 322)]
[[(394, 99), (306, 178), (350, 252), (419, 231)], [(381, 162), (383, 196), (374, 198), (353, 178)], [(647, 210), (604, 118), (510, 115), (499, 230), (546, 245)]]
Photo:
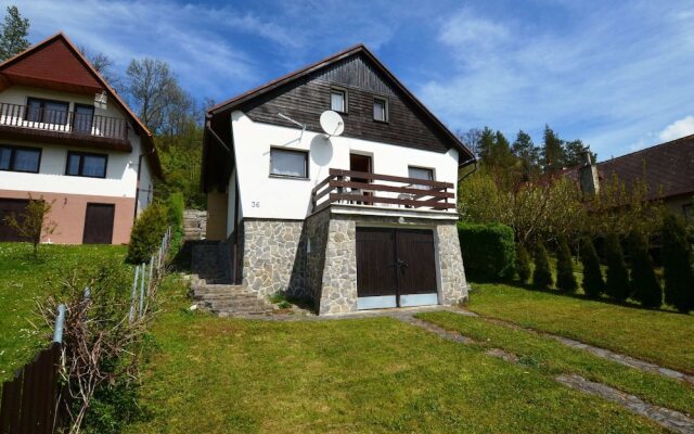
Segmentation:
[(127, 243), (162, 167), (152, 135), (63, 34), (0, 64), (2, 222), (53, 202), (54, 243)]

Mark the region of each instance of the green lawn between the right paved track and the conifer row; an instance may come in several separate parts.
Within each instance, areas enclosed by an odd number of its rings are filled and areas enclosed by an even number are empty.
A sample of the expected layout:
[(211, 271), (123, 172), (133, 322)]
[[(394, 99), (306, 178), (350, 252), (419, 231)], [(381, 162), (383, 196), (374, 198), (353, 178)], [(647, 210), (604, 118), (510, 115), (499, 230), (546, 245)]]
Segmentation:
[(473, 284), (470, 310), (694, 373), (694, 316), (509, 284)]

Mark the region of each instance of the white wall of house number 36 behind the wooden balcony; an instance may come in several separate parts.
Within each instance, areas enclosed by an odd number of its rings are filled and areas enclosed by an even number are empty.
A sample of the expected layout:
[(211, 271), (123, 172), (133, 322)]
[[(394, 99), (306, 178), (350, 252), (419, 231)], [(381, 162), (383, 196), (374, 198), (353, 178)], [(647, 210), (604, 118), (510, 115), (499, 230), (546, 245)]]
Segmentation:
[[(350, 153), (371, 155), (375, 174), (408, 177), (408, 166), (417, 166), (434, 169), (437, 181), (454, 184), (458, 179), (458, 151), (453, 149), (436, 153), (347, 137), (325, 139), (321, 133), (301, 133), (299, 128), (254, 123), (240, 111), (231, 116), (244, 217), (306, 218), (311, 189), (327, 177), (330, 168), (349, 169)], [(309, 179), (270, 177), (271, 146), (309, 151)]]

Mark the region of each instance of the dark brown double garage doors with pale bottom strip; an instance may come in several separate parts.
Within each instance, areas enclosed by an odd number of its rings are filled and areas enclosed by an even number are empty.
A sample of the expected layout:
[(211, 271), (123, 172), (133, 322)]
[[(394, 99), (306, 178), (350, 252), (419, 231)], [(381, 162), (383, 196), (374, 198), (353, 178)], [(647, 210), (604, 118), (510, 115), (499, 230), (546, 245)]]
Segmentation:
[(438, 303), (430, 230), (357, 228), (357, 295), (362, 309)]

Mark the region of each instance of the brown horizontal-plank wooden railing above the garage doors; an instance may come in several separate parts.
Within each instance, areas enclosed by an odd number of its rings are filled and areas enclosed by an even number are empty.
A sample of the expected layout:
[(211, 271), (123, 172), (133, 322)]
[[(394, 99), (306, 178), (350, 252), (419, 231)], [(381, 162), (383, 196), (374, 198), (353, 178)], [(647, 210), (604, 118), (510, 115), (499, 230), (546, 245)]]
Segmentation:
[(329, 174), (311, 191), (314, 212), (333, 203), (455, 209), (455, 195), (452, 192), (454, 186), (450, 182), (343, 169), (330, 169)]

